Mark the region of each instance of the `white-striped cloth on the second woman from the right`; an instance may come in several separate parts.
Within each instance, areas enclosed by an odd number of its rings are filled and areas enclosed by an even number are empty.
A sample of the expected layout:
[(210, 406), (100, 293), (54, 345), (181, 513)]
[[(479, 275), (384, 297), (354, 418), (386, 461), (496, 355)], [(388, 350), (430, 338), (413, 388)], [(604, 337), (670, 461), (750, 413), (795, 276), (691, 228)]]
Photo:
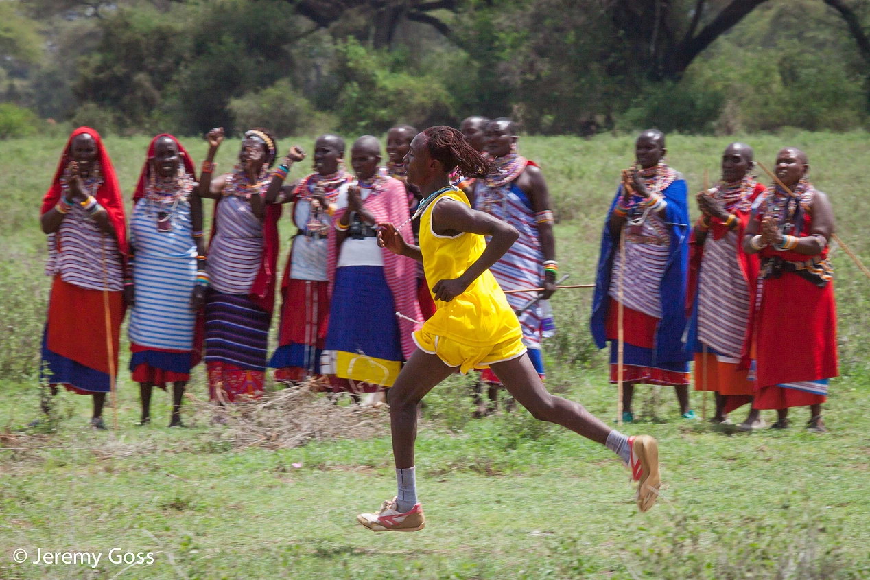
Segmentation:
[(737, 260), (737, 232), (708, 235), (698, 283), (698, 340), (740, 359), (749, 323), (749, 288)]

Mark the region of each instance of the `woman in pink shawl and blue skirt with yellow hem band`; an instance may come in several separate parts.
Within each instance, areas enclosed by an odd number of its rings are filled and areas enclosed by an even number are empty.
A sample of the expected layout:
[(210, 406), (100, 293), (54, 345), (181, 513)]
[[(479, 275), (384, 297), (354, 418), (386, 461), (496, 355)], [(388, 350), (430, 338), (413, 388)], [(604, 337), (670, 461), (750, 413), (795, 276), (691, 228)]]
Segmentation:
[[(378, 247), (378, 223), (410, 219), (405, 185), (380, 163), (378, 139), (365, 135), (351, 148), (357, 183), (347, 207), (335, 213), (336, 246), (330, 248), (331, 285), (326, 351), (334, 361), (334, 391), (372, 392), (391, 387), (413, 350), (412, 332), (421, 314), (417, 264)], [(405, 241), (413, 242), (410, 228)], [(402, 314), (399, 318), (395, 313)], [(411, 319), (411, 320), (408, 320)], [(355, 385), (351, 381), (365, 383)]]

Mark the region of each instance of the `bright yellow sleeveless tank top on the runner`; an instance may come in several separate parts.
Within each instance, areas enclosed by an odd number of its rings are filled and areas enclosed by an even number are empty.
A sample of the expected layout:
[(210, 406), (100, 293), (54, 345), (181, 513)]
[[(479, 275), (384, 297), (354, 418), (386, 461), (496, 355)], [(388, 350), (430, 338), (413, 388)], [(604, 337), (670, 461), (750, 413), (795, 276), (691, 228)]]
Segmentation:
[[(420, 252), (429, 293), (438, 280), (458, 278), (480, 257), (486, 246), (484, 237), (476, 233), (439, 236), (432, 230), (435, 205), (453, 203), (444, 201), (445, 198), (470, 206), (464, 192), (449, 189), (432, 200), (420, 216)], [(425, 321), (423, 329), (451, 341), (480, 347), (522, 336), (519, 320), (489, 270), (450, 302), (435, 300), (435, 307), (435, 314)]]

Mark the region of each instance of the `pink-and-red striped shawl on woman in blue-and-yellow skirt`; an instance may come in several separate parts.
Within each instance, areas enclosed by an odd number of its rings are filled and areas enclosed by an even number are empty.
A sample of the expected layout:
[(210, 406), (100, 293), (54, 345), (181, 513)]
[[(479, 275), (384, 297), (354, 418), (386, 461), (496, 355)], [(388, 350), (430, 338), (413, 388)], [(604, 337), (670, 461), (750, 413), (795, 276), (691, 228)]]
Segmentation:
[[(352, 183), (351, 185), (357, 184)], [(391, 177), (386, 178), (384, 185), (381, 185), (380, 191), (377, 194), (374, 192), (369, 194), (369, 197), (363, 202), (363, 206), (365, 206), (366, 211), (371, 212), (371, 215), (378, 224), (390, 222), (398, 226), (398, 224), (405, 223), (405, 220), (411, 217), (408, 212), (405, 184)], [(345, 214), (345, 211), (346, 208), (344, 207), (338, 209), (332, 217), (332, 223), (338, 223), (338, 220)], [(410, 227), (405, 228), (401, 234), (408, 244), (414, 243)], [(392, 253), (386, 248), (381, 248), (381, 254), (384, 256), (386, 283), (390, 287), (396, 310), (413, 320), (423, 320), (423, 314), (420, 314), (420, 306), (417, 302), (417, 263), (411, 258)], [(335, 284), (335, 266), (337, 262), (338, 246), (336, 245), (336, 230), (332, 227), (329, 233), (329, 253), (326, 260), (330, 299), (332, 297), (332, 287)], [(365, 305), (361, 306), (365, 307)], [(403, 318), (398, 318), (397, 322), (398, 331), (402, 337), (402, 354), (405, 355), (405, 360), (407, 360), (414, 352), (414, 348), (416, 348), (411, 334), (421, 326), (422, 322), (414, 323), (411, 320)]]

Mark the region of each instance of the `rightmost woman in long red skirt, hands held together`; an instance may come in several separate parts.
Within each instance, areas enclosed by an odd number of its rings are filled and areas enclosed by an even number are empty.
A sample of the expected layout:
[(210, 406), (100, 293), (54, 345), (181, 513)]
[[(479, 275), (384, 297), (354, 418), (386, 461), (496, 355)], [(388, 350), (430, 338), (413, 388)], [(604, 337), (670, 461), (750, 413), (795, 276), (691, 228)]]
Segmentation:
[[(743, 236), (746, 253), (760, 253), (752, 347), (756, 361), (753, 408), (775, 408), (774, 428), (788, 426), (788, 409), (809, 407), (806, 428), (824, 432), (821, 403), (837, 376), (837, 310), (827, 242), (833, 210), (806, 180), (806, 154), (786, 147), (776, 156), (779, 184), (753, 207)], [(783, 340), (786, 335), (788, 340)]]

